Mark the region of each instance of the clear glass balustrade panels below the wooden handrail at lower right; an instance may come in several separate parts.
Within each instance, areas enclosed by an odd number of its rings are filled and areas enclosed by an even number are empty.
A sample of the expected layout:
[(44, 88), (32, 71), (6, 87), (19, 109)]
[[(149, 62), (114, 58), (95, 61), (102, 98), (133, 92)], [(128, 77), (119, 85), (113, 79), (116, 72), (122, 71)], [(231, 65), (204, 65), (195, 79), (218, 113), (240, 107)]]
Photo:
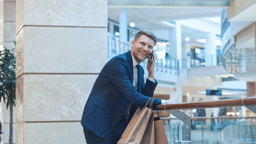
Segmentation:
[[(169, 144), (182, 140), (182, 121), (164, 120)], [(193, 124), (193, 123), (192, 123)], [(191, 144), (256, 144), (256, 122), (198, 122), (190, 125)]]

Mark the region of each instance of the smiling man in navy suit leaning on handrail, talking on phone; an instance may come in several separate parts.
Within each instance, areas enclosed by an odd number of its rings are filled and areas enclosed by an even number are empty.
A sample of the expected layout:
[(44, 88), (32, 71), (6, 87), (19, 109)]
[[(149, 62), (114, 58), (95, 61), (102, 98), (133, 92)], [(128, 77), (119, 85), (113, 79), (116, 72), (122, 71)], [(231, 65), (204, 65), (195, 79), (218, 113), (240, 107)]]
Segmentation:
[[(132, 40), (131, 50), (115, 56), (102, 68), (84, 107), (81, 124), (87, 144), (116, 144), (138, 106), (144, 106), (153, 96), (157, 82), (154, 79), (156, 36), (140, 30)], [(140, 62), (153, 52), (147, 65), (148, 78)], [(155, 99), (158, 104), (177, 103)]]

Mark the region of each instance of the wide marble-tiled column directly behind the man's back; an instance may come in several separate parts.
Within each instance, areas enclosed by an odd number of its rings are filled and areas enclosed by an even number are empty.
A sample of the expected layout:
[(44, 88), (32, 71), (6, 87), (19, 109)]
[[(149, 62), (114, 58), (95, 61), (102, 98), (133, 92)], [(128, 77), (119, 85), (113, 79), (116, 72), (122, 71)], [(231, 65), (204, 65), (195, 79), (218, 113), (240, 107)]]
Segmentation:
[(16, 1), (16, 144), (84, 144), (107, 61), (107, 0)]

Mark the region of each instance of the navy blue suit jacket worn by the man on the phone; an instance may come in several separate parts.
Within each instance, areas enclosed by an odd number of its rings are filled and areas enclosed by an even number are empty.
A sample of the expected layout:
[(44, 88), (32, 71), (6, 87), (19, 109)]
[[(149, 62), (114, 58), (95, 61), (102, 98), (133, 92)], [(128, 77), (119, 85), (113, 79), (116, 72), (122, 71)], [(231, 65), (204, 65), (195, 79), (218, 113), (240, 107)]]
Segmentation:
[[(148, 96), (152, 97), (157, 82), (146, 80), (144, 70), (140, 66), (140, 90), (138, 92), (133, 82), (133, 63), (130, 50), (115, 56), (102, 68), (88, 97), (81, 124), (86, 126), (100, 138), (106, 138), (112, 128), (124, 116), (129, 103), (132, 104), (130, 116), (133, 116), (133, 106), (144, 106)], [(161, 104), (160, 99), (154, 101), (154, 106)]]

